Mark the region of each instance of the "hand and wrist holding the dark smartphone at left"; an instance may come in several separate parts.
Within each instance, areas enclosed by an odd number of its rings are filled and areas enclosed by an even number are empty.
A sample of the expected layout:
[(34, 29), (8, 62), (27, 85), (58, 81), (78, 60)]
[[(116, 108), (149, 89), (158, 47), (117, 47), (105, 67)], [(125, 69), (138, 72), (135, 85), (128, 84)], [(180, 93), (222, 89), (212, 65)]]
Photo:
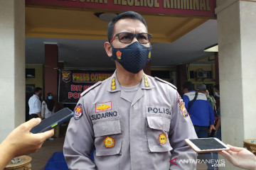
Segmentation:
[(9, 164), (11, 159), (24, 154), (31, 154), (41, 148), (43, 142), (54, 135), (53, 130), (33, 134), (30, 130), (41, 122), (32, 118), (15, 128), (0, 144), (0, 170)]

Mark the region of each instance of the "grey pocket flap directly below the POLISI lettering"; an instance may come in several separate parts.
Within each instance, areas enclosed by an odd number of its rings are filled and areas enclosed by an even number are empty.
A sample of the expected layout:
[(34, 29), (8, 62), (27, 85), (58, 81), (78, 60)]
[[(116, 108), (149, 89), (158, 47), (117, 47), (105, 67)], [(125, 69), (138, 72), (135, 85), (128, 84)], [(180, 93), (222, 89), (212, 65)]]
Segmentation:
[(149, 125), (149, 128), (156, 129), (156, 130), (164, 130), (166, 132), (169, 132), (170, 130), (170, 124), (171, 119), (161, 116), (155, 116), (155, 115), (147, 115), (146, 116), (147, 123)]

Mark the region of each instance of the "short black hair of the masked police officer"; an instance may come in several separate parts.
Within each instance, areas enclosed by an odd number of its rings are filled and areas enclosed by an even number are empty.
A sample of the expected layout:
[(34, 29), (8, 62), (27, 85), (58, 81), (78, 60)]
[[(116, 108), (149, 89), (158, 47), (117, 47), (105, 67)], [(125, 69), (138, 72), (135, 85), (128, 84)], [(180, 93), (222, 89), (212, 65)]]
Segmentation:
[[(109, 25), (107, 26), (107, 39), (112, 40), (113, 38), (113, 33), (114, 33), (114, 24), (117, 23), (117, 21), (119, 21), (120, 19), (124, 19), (124, 18), (129, 18), (129, 19), (134, 19), (134, 20), (139, 20), (142, 21), (142, 23), (144, 24), (144, 26), (146, 26), (146, 21), (145, 19), (137, 12), (134, 11), (127, 11), (124, 13), (120, 13), (119, 15), (115, 16), (112, 21), (109, 23)], [(147, 30), (147, 26), (146, 26), (146, 30)]]

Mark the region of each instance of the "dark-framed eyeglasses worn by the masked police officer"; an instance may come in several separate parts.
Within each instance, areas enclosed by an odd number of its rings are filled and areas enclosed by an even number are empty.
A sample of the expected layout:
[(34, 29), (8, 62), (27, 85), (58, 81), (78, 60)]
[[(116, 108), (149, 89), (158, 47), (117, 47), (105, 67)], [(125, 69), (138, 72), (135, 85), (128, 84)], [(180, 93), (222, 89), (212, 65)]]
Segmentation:
[[(139, 43), (141, 44), (146, 44), (150, 42), (150, 39), (152, 37), (152, 35), (150, 33), (117, 33), (114, 38), (118, 37), (119, 42), (122, 43), (126, 43), (129, 44), (132, 42), (132, 40), (134, 39), (134, 37), (136, 36), (137, 40), (139, 41)], [(114, 40), (114, 38), (112, 38), (112, 40), (110, 40), (110, 43)]]

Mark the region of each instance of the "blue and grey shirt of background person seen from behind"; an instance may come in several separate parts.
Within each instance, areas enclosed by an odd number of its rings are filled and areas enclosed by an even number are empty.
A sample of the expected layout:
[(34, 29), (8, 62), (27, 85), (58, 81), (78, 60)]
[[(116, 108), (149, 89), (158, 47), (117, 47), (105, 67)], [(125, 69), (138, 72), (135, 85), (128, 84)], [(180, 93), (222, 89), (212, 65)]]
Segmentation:
[(183, 95), (183, 101), (186, 109), (191, 115), (193, 125), (208, 126), (214, 124), (213, 108), (207, 100), (206, 95), (198, 93), (196, 101), (194, 101), (191, 108), (188, 110), (188, 103), (195, 97), (196, 91), (190, 91)]

